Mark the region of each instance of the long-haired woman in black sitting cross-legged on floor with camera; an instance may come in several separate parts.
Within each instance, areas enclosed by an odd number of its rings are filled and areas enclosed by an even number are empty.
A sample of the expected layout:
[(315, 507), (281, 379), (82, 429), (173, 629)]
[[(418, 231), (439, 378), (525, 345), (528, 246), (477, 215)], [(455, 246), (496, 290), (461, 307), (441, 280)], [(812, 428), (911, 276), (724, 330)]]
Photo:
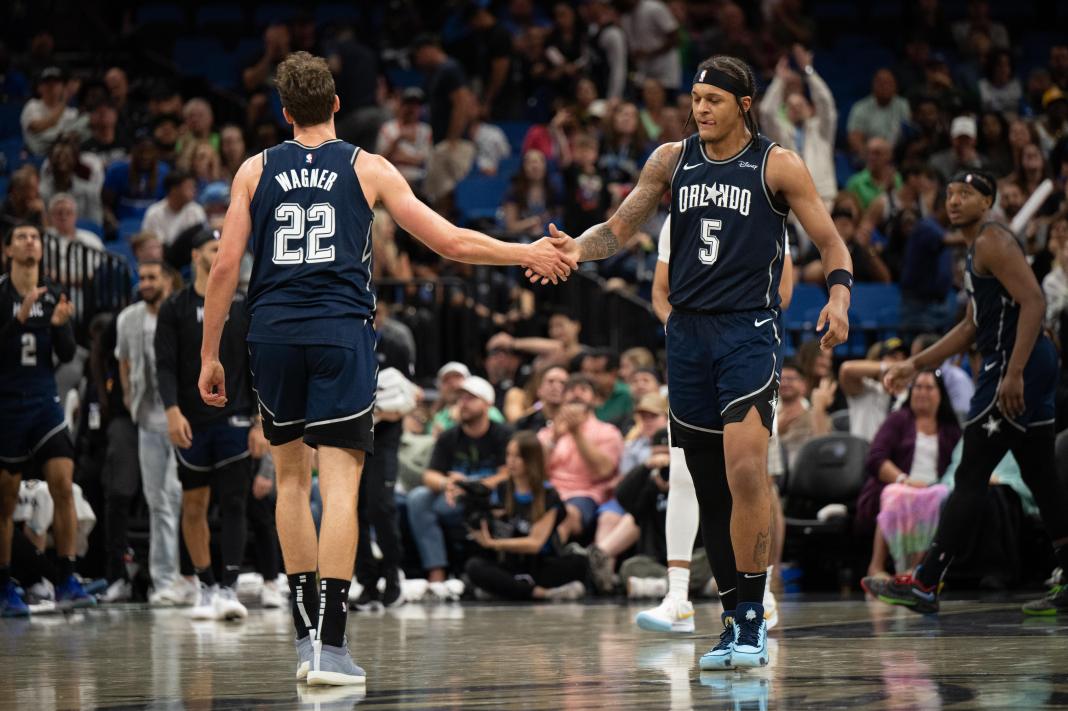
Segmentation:
[(577, 600), (586, 594), (586, 560), (562, 554), (556, 528), (567, 516), (549, 484), (545, 451), (533, 432), (506, 449), (507, 478), (497, 487), (503, 510), (471, 532), (481, 550), (465, 570), (476, 590), (508, 600)]

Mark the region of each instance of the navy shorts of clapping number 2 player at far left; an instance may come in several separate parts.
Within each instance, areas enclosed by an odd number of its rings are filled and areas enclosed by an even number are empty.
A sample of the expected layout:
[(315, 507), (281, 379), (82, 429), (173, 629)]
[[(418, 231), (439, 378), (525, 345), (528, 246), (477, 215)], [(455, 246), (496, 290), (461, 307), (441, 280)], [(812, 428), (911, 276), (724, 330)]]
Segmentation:
[(31, 459), (74, 459), (67, 429), (56, 395), (0, 396), (0, 469), (25, 472)]

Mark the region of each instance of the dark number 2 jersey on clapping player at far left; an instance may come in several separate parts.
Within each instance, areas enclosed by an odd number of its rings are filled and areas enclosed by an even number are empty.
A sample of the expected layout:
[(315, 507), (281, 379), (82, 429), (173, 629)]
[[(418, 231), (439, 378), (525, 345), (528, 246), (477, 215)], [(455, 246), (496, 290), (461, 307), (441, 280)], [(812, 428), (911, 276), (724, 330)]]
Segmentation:
[(47, 279), (38, 286), (48, 290), (37, 297), (26, 323), (19, 323), (22, 297), (11, 275), (0, 275), (0, 394), (22, 397), (56, 397), (53, 354), (62, 362), (74, 357), (75, 341), (69, 321), (52, 326), (52, 312), (60, 288)]

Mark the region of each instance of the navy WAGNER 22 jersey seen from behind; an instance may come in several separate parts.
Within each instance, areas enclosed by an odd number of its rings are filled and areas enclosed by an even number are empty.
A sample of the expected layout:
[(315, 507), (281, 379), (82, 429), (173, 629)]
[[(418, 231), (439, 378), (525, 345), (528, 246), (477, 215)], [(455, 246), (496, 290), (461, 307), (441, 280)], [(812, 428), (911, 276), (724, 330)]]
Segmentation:
[(263, 154), (252, 198), (249, 341), (357, 347), (375, 312), (374, 215), (340, 139), (285, 141)]

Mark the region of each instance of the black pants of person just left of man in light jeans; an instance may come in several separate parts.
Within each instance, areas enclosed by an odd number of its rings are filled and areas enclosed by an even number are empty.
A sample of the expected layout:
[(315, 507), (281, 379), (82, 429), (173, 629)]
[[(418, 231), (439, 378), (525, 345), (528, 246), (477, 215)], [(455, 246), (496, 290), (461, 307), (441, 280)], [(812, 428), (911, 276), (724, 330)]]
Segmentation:
[(105, 548), (109, 582), (126, 580), (130, 505), (141, 484), (137, 425), (129, 416), (108, 423), (108, 448), (101, 473), (105, 507)]

